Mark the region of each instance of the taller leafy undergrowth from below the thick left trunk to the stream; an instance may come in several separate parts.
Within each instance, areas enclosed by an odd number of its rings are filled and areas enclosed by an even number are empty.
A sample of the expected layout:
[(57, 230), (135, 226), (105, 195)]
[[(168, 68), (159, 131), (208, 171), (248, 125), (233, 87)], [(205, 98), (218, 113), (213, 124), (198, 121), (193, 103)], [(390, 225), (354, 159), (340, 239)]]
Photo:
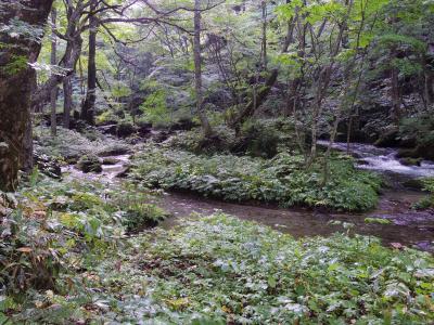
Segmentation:
[(127, 232), (164, 219), (151, 195), (128, 183), (59, 182), (37, 172), (15, 196), (1, 194), (0, 323), (34, 290), (67, 292), (77, 273), (122, 249)]

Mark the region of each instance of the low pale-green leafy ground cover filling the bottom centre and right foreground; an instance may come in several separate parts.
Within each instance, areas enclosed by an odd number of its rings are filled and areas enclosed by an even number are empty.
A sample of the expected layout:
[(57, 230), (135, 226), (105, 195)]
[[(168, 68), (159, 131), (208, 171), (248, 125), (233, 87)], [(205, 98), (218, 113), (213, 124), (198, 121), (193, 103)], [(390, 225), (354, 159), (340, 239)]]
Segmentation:
[(431, 324), (434, 260), (374, 238), (293, 239), (225, 214), (128, 239), (35, 292), (14, 321), (52, 324)]

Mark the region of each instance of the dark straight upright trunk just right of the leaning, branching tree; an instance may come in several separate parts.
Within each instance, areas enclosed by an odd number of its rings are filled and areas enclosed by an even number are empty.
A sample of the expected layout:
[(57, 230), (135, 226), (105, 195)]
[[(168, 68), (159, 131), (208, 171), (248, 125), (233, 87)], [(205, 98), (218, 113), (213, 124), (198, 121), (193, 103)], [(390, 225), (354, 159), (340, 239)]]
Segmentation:
[[(98, 1), (92, 0), (90, 12), (94, 12), (97, 6)], [(89, 18), (88, 92), (86, 94), (86, 101), (81, 107), (81, 118), (89, 125), (94, 125), (94, 106), (97, 101), (97, 32), (98, 18), (92, 14)]]

